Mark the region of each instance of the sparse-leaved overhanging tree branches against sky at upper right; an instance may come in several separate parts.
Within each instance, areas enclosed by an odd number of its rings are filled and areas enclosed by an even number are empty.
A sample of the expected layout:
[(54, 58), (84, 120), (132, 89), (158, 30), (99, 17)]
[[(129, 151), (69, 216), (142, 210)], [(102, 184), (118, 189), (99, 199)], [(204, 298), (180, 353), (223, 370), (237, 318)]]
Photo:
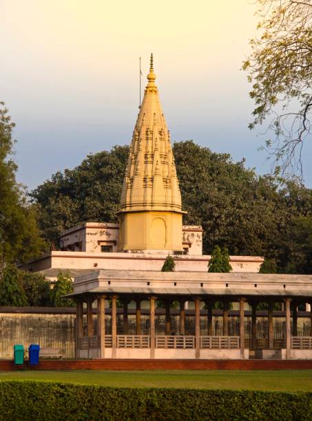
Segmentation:
[(301, 153), (311, 139), (312, 1), (256, 0), (260, 9), (252, 53), (243, 64), (252, 83), (255, 125), (269, 120), (266, 147), (283, 173), (302, 173)]

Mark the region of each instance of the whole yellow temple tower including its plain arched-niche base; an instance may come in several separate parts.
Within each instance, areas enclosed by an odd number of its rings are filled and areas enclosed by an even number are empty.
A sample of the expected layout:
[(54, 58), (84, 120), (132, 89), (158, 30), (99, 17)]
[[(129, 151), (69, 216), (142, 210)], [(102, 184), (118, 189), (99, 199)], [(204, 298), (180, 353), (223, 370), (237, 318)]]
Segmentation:
[(120, 250), (180, 251), (181, 195), (153, 55), (121, 192)]

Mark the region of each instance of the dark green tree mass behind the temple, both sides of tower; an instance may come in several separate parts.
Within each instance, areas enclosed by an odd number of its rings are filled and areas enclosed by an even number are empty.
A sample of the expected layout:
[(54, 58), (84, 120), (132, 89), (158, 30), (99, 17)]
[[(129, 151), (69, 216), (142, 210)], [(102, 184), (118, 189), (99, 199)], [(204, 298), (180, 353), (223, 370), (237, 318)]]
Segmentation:
[[(244, 161), (191, 140), (173, 149), (184, 223), (202, 225), (206, 254), (219, 245), (231, 255), (274, 259), (279, 272), (312, 273), (311, 189), (295, 179), (259, 176)], [(89, 155), (32, 192), (46, 241), (58, 246), (61, 231), (81, 222), (116, 222), (128, 151)]]

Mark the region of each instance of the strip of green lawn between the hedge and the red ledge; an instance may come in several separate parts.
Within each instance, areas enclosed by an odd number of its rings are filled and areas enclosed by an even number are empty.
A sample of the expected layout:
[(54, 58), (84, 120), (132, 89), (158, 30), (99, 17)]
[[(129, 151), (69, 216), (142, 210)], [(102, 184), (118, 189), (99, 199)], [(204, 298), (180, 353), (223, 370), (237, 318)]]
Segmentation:
[(2, 380), (41, 380), (112, 387), (187, 387), (312, 391), (312, 370), (275, 371), (1, 371)]

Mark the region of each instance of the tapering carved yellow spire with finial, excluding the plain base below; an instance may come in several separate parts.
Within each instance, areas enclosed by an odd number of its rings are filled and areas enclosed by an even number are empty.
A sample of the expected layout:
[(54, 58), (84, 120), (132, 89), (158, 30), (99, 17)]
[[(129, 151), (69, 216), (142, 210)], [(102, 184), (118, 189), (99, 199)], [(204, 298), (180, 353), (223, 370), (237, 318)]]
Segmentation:
[[(129, 159), (123, 182), (121, 209), (181, 211), (180, 188), (172, 159), (170, 135), (154, 83), (156, 75), (153, 53), (147, 80), (134, 127), (130, 147), (131, 160)], [(158, 178), (160, 175), (161, 180)], [(138, 177), (141, 177), (140, 181)], [(155, 178), (158, 179), (157, 182)]]

